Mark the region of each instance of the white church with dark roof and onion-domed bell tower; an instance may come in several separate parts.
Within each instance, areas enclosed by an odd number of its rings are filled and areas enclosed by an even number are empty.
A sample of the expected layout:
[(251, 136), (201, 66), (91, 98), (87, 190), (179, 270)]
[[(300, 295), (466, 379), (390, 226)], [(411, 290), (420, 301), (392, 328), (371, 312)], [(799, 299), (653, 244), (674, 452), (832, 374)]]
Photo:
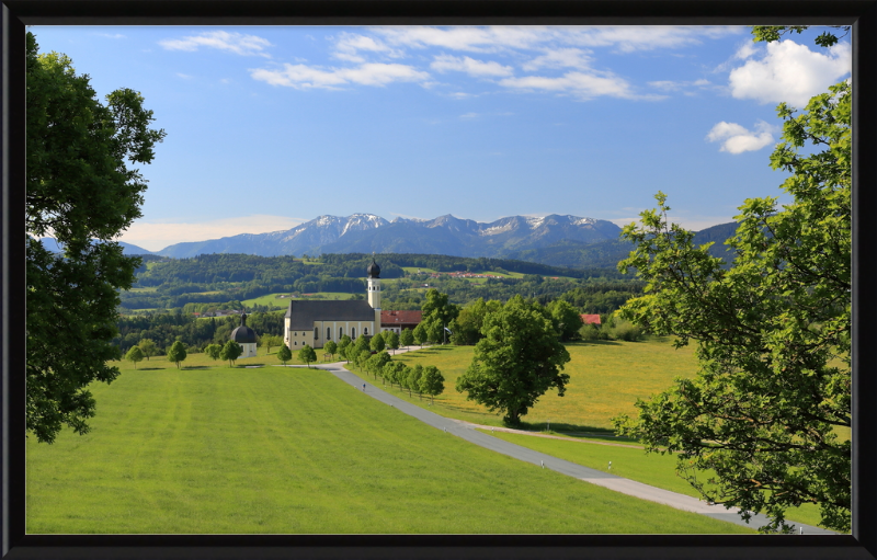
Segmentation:
[(291, 300), (284, 317), (283, 340), (289, 350), (305, 344), (321, 348), (328, 341), (351, 340), (380, 332), (380, 266), (366, 268), (367, 299)]

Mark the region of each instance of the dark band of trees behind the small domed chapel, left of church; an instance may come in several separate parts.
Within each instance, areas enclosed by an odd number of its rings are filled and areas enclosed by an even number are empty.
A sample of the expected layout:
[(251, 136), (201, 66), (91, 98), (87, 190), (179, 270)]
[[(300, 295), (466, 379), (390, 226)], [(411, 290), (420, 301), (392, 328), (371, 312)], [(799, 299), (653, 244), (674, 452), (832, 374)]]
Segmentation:
[[(283, 336), (283, 311), (248, 315), (247, 325), (259, 336)], [(190, 352), (201, 352), (208, 344), (228, 342), (231, 331), (239, 325), (239, 316), (197, 319), (175, 309), (172, 312), (121, 317), (116, 324), (118, 334), (112, 343), (118, 346), (121, 355), (145, 339), (151, 340), (160, 353), (167, 352), (176, 341), (182, 342)]]

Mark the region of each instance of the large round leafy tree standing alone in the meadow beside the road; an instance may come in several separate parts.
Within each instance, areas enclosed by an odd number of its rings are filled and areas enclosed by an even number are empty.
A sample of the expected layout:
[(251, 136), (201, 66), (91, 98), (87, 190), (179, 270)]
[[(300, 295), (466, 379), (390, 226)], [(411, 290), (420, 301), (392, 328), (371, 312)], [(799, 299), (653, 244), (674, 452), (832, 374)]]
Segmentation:
[(519, 425), (551, 387), (563, 396), (569, 375), (560, 370), (570, 357), (544, 307), (515, 296), (485, 318), (481, 333), (472, 363), (457, 378), (457, 390), (467, 400), (501, 411), (506, 424)]

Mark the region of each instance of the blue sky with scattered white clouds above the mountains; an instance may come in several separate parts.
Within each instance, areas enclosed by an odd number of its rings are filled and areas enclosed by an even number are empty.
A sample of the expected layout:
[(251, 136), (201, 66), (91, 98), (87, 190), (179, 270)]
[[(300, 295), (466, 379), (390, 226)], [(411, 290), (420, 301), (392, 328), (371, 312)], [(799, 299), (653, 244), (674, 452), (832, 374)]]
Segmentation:
[(571, 214), (669, 196), (691, 229), (779, 196), (781, 101), (848, 76), (850, 37), (747, 27), (33, 26), (98, 95), (139, 91), (168, 136), (123, 241), (289, 229), (320, 215)]

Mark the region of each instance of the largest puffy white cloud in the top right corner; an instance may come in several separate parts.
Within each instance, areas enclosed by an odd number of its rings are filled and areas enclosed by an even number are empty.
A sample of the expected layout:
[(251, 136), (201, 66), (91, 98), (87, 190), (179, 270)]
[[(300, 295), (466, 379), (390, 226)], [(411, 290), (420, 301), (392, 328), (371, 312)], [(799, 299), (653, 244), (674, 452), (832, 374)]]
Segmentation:
[(827, 52), (812, 52), (790, 39), (768, 43), (764, 58), (750, 59), (731, 70), (731, 95), (804, 107), (810, 98), (850, 73), (852, 60), (848, 43), (839, 43)]

